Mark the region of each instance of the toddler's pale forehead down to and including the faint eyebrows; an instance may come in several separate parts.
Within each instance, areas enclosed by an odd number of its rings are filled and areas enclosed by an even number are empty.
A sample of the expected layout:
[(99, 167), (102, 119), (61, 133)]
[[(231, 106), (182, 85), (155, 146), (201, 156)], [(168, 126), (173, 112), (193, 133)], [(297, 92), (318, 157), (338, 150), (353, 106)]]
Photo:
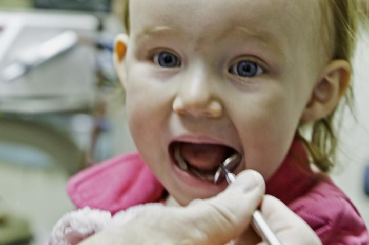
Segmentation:
[(302, 44), (316, 45), (322, 20), (320, 1), (131, 0), (131, 36), (139, 39), (168, 31), (185, 41), (214, 43), (241, 33), (285, 53)]

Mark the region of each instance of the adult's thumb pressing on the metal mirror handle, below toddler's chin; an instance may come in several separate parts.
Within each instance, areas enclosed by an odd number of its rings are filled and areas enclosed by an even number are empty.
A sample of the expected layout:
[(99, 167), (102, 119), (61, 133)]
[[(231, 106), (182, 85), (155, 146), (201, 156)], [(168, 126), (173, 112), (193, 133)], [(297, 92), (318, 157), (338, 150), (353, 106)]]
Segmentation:
[(196, 227), (195, 244), (225, 244), (239, 237), (249, 226), (252, 213), (265, 192), (263, 177), (246, 170), (217, 196), (192, 202), (187, 209), (187, 227)]

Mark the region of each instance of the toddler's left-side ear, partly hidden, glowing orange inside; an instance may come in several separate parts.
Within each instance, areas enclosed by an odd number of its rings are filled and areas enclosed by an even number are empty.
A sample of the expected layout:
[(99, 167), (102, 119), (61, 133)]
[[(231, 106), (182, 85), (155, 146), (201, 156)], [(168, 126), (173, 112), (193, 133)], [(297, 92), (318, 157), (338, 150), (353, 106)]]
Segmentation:
[(120, 82), (126, 87), (127, 72), (126, 72), (126, 53), (127, 53), (128, 35), (119, 34), (114, 41), (114, 66), (118, 74)]

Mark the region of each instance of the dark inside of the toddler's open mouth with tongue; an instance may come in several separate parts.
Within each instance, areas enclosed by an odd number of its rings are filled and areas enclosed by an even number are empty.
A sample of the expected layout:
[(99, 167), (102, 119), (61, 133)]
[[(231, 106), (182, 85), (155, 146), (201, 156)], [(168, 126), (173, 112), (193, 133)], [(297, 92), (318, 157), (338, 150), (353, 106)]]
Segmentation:
[(174, 141), (169, 145), (169, 153), (181, 170), (199, 179), (214, 182), (219, 164), (238, 152), (226, 145)]

